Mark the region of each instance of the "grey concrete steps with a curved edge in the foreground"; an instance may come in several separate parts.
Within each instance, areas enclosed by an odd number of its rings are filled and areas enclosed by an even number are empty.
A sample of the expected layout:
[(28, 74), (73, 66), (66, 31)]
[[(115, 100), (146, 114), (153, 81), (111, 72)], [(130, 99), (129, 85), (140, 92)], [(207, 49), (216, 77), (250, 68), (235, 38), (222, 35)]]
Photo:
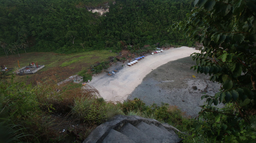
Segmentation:
[(175, 127), (155, 119), (117, 115), (96, 127), (83, 143), (179, 143)]

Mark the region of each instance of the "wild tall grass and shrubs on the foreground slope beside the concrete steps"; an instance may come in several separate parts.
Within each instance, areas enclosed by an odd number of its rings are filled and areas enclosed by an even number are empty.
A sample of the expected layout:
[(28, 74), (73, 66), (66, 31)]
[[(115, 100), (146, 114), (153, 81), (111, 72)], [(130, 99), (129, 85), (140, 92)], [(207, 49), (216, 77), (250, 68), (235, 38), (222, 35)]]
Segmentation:
[[(50, 83), (38, 83), (36, 86), (15, 82), (0, 83), (1, 139), (6, 133), (6, 138), (3, 138), (5, 142), (64, 141), (61, 138), (67, 137), (67, 134), (65, 136), (58, 133), (62, 124), (58, 123), (59, 118), (56, 117), (60, 114), (65, 115), (62, 118), (69, 123), (76, 120), (83, 125), (80, 140), (95, 126), (119, 114), (154, 118), (174, 126), (186, 126), (188, 123), (176, 106), (146, 106), (138, 98), (114, 104), (100, 98), (99, 92), (89, 85), (81, 88), (78, 84), (57, 86)], [(72, 133), (78, 137), (76, 133)]]

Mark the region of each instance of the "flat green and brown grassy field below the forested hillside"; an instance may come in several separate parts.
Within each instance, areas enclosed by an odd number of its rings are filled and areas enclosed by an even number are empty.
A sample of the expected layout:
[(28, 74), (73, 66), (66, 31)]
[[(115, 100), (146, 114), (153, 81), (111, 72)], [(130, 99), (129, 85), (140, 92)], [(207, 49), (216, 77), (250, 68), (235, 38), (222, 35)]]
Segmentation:
[(10, 55), (8, 58), (0, 57), (1, 65), (4, 64), (6, 67), (13, 67), (14, 69), (28, 66), (29, 63), (34, 62), (38, 65), (45, 65), (45, 67), (36, 72), (35, 74), (28, 74), (25, 76), (16, 76), (16, 82), (27, 81), (35, 82), (38, 78), (54, 78), (63, 80), (68, 76), (76, 74), (84, 69), (88, 69), (90, 65), (102, 61), (108, 60), (109, 57), (115, 57), (117, 54), (106, 50), (101, 51), (88, 51), (83, 53), (76, 53), (70, 55), (60, 55), (52, 52), (44, 53), (22, 53), (20, 57), (18, 55)]

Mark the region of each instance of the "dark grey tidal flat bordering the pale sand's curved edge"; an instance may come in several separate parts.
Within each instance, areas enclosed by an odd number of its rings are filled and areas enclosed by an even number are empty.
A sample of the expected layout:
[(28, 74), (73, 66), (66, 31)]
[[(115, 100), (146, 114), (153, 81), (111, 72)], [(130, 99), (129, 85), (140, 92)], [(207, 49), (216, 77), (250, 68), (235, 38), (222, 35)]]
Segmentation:
[(193, 65), (196, 63), (192, 58), (185, 57), (152, 70), (127, 99), (140, 98), (147, 105), (168, 103), (178, 106), (187, 116), (196, 117), (201, 110), (199, 106), (205, 102), (201, 96), (214, 95), (220, 84), (210, 82), (210, 76), (190, 70)]

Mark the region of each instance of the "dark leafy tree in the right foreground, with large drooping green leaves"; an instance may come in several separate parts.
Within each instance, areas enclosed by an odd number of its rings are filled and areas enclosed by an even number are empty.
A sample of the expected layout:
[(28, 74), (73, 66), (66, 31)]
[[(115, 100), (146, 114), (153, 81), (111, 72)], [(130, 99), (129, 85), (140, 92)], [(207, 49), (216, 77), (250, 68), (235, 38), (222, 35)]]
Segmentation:
[[(183, 25), (188, 36), (203, 43), (192, 69), (221, 83), (220, 92), (204, 95), (196, 139), (255, 142), (256, 139), (256, 1), (195, 0)], [(182, 23), (180, 23), (182, 25)], [(212, 106), (224, 103), (218, 109)]]

